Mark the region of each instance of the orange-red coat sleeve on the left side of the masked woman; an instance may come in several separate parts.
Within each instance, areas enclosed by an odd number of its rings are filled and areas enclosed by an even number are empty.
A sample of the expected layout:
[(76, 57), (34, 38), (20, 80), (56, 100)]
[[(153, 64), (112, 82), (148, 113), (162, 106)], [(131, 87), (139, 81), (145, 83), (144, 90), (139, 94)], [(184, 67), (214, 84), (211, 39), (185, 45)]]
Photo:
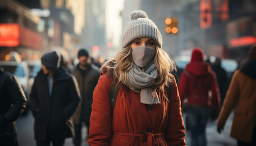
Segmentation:
[(110, 108), (111, 80), (107, 74), (99, 77), (93, 92), (88, 144), (109, 145), (112, 137), (112, 113)]

